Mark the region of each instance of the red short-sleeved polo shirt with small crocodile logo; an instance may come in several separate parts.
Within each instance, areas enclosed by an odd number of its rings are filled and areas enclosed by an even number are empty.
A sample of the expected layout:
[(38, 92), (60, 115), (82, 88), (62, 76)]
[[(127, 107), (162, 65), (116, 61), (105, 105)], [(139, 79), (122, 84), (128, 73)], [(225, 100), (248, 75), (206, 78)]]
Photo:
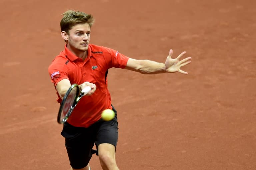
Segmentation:
[[(112, 67), (125, 68), (128, 59), (129, 57), (113, 49), (89, 44), (87, 58), (83, 61), (65, 45), (65, 50), (55, 57), (48, 68), (54, 86), (59, 81), (68, 79), (71, 84), (88, 81), (97, 87), (91, 96), (82, 97), (68, 118), (68, 123), (77, 127), (88, 127), (101, 118), (104, 109), (112, 109), (105, 75)], [(57, 95), (57, 101), (61, 102), (58, 92)]]

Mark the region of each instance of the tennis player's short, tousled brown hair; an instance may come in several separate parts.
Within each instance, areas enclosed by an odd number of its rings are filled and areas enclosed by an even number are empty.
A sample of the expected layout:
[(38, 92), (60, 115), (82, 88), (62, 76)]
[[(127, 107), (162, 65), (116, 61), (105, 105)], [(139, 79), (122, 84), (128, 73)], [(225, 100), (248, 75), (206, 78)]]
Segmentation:
[(86, 14), (80, 11), (67, 10), (63, 14), (63, 18), (60, 21), (61, 31), (65, 31), (69, 34), (69, 30), (79, 23), (88, 23), (90, 28), (94, 23), (94, 18), (91, 14)]

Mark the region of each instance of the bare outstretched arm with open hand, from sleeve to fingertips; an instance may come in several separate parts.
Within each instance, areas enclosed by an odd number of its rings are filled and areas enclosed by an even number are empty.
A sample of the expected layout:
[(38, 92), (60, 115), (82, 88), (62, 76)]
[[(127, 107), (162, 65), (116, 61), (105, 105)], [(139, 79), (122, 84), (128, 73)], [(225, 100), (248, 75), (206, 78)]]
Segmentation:
[(191, 57), (185, 58), (181, 61), (179, 59), (186, 53), (182, 52), (177, 58), (172, 58), (172, 50), (170, 50), (169, 55), (166, 58), (165, 63), (159, 63), (150, 60), (136, 60), (129, 58), (125, 69), (137, 71), (142, 74), (158, 74), (158, 73), (175, 73), (180, 72), (182, 74), (188, 74), (187, 72), (181, 70), (182, 66), (191, 63)]

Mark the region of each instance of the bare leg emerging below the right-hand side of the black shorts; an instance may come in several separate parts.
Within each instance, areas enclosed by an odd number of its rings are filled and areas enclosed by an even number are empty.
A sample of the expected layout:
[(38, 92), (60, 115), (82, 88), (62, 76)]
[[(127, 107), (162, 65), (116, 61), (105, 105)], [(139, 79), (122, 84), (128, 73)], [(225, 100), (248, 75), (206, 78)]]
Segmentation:
[(119, 170), (115, 158), (115, 146), (102, 143), (98, 146), (100, 164), (103, 170)]

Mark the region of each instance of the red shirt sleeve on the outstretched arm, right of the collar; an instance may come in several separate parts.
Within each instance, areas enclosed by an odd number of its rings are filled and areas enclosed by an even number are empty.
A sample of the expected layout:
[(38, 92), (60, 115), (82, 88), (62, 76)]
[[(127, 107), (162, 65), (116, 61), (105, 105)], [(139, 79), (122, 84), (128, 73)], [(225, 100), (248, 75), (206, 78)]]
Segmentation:
[(126, 67), (129, 57), (110, 48), (104, 48), (104, 57), (109, 67), (122, 68)]

